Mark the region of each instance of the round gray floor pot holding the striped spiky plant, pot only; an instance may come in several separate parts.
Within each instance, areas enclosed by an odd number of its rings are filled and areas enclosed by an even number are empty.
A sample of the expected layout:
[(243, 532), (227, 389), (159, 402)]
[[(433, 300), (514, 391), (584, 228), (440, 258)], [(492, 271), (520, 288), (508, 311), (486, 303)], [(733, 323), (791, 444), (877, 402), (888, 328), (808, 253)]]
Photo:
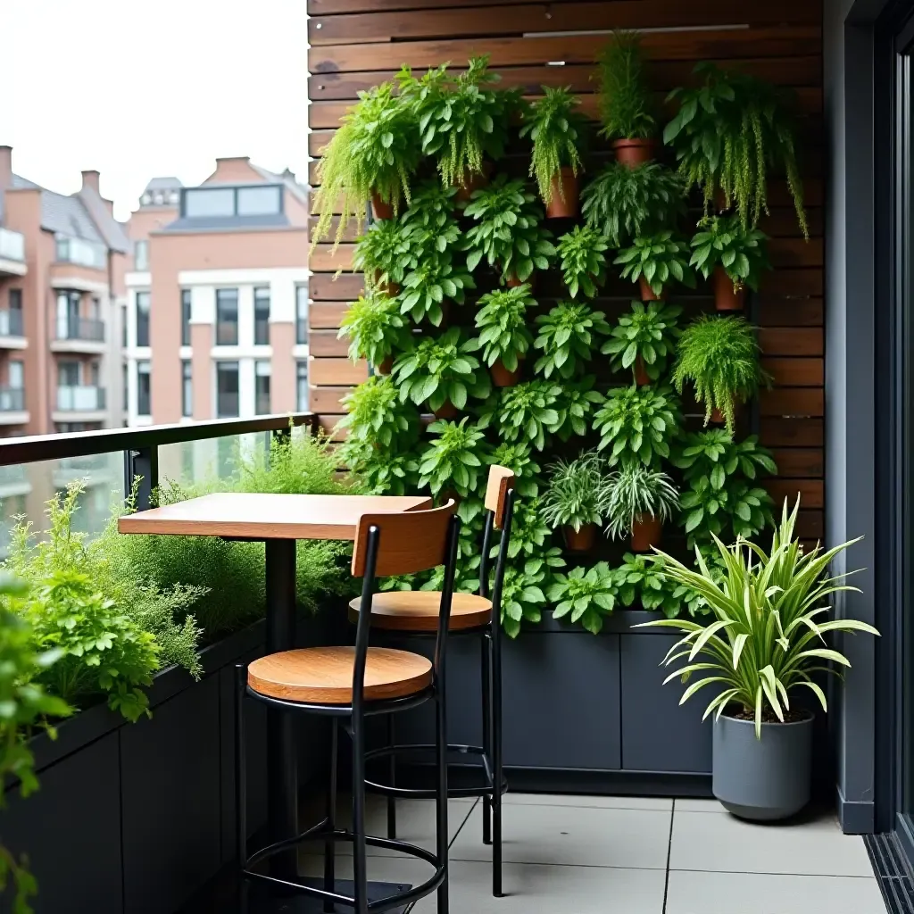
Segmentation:
[(771, 822), (799, 813), (809, 802), (813, 715), (790, 724), (721, 717), (714, 725), (712, 790), (728, 812)]

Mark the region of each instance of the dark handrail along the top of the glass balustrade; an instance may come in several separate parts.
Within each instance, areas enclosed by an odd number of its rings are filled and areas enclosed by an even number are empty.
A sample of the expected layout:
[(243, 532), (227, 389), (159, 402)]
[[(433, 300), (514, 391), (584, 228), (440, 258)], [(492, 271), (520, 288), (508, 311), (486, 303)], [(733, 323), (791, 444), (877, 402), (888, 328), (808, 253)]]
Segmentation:
[(317, 428), (313, 412), (257, 416), (254, 419), (222, 419), (207, 422), (182, 422), (178, 425), (152, 425), (145, 428), (100, 429), (80, 431), (79, 434), (29, 435), (0, 440), (0, 466), (35, 463), (65, 457), (87, 457), (114, 451), (133, 451), (179, 444), (182, 441), (203, 441), (244, 435), (258, 431), (282, 431), (289, 423)]

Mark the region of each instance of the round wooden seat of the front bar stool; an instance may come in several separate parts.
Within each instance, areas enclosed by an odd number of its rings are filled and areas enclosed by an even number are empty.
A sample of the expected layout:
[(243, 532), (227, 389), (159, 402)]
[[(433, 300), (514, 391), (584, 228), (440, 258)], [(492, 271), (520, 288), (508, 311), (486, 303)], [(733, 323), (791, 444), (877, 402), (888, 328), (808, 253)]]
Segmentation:
[[(310, 705), (352, 703), (354, 647), (307, 647), (268, 654), (248, 665), (248, 685), (260, 695)], [(431, 685), (431, 662), (420, 654), (369, 647), (365, 697), (415, 695)]]

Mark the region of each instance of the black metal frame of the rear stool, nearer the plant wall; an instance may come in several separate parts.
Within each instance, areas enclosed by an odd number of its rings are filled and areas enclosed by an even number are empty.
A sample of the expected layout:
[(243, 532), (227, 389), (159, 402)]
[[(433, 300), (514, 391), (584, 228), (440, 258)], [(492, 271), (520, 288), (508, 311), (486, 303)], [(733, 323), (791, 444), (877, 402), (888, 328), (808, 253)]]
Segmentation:
[[(448, 744), (449, 753), (478, 755), (483, 761), (485, 776), (481, 787), (450, 788), (449, 799), (482, 797), (483, 799), (483, 843), (492, 845), (492, 894), (502, 898), (502, 796), (507, 792), (502, 760), (502, 657), (501, 657), (501, 597), (505, 580), (505, 565), (508, 546), (511, 541), (511, 521), (514, 515), (515, 490), (505, 493), (505, 517), (502, 537), (495, 561), (495, 576), (492, 586), (492, 619), (487, 625), (452, 632), (453, 637), (481, 638), (483, 676), (483, 745), (460, 746)], [(487, 511), (483, 531), (483, 553), (479, 566), (479, 595), (488, 598), (488, 559), (494, 532), (494, 511)], [(359, 622), (365, 613), (360, 603)], [(393, 632), (389, 632), (393, 633)], [(403, 632), (406, 633), (406, 632)], [(423, 632), (409, 632), (410, 638), (429, 637)], [(388, 839), (397, 837), (397, 799), (432, 800), (436, 792), (428, 789), (397, 787), (397, 756), (408, 752), (435, 749), (434, 745), (398, 744), (396, 742), (394, 716), (387, 718), (387, 745), (367, 753), (366, 761), (387, 758), (389, 783), (366, 781), (367, 790), (388, 798)], [(495, 788), (495, 785), (499, 785)]]

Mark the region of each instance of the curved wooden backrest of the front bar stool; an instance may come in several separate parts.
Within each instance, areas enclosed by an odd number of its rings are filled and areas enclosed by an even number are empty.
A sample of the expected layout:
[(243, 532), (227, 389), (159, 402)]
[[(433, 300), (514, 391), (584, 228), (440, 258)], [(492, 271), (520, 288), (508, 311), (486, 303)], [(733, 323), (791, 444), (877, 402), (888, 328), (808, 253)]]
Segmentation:
[(368, 554), (368, 531), (377, 526), (381, 536), (377, 544), (376, 577), (415, 574), (444, 565), (447, 561), (448, 527), (457, 505), (428, 511), (404, 511), (399, 514), (362, 515), (356, 527), (356, 546), (352, 553), (352, 573), (365, 575)]

